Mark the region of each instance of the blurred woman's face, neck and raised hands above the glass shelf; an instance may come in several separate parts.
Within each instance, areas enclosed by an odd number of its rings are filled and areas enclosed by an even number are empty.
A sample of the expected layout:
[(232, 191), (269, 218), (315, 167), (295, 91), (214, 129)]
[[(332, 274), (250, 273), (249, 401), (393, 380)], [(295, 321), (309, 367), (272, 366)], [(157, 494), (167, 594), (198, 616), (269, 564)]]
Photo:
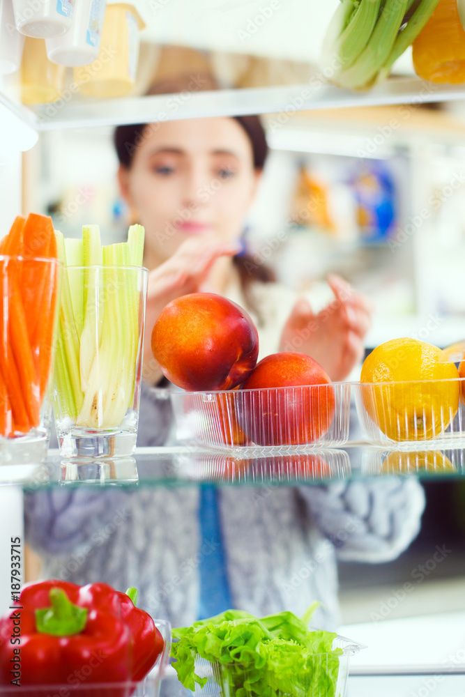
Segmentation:
[(305, 298), (273, 283), (270, 271), (244, 254), (245, 217), (268, 151), (259, 118), (120, 126), (115, 144), (121, 192), (146, 229), (144, 263), (152, 272), (146, 380), (154, 384), (162, 377), (150, 350), (158, 314), (169, 300), (202, 290), (245, 305), (259, 325), (261, 357), (293, 346), (299, 337), (299, 351), (333, 380), (346, 378), (363, 357), (371, 303), (333, 276), (332, 311), (314, 315)]

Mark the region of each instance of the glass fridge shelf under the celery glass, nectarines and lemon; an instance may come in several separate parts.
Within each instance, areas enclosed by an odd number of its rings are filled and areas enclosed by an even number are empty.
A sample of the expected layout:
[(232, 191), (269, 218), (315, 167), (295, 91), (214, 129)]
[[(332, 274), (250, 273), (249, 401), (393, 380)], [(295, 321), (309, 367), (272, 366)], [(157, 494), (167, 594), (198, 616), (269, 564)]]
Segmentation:
[[(361, 460), (361, 461), (360, 461)], [(51, 452), (36, 466), (0, 466), (1, 484), (34, 490), (54, 486), (171, 487), (318, 485), (332, 480), (416, 475), (420, 480), (465, 477), (465, 450), (388, 450), (346, 444), (293, 454), (220, 453), (173, 446), (136, 450), (133, 457), (70, 458)]]

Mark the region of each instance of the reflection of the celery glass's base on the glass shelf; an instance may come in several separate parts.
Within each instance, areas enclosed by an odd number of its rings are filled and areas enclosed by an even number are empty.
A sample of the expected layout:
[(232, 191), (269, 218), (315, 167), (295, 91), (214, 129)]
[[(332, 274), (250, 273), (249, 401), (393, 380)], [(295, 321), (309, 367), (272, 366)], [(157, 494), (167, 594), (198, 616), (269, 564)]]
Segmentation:
[(139, 474), (134, 457), (83, 460), (63, 459), (60, 484), (138, 484)]

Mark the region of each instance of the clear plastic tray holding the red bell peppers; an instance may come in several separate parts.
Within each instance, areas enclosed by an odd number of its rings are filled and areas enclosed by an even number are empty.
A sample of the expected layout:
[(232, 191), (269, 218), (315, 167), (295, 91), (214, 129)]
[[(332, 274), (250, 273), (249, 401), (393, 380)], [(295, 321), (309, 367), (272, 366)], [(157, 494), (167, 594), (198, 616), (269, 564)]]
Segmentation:
[[(89, 665), (71, 673), (65, 684), (17, 685), (0, 684), (0, 696), (13, 697), (158, 697), (171, 653), (171, 625), (166, 620), (154, 620), (165, 646), (150, 673), (140, 682), (92, 682), (92, 657)], [(23, 666), (22, 670), (25, 670)], [(21, 678), (20, 678), (21, 683)]]

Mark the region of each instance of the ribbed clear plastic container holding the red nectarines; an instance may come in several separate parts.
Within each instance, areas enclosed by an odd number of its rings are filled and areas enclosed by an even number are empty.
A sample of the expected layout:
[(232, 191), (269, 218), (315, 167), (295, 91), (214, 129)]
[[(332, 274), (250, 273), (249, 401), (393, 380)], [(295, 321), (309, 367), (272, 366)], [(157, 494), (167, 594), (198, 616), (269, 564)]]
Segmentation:
[(296, 452), (349, 437), (350, 383), (171, 392), (180, 441), (231, 452)]

